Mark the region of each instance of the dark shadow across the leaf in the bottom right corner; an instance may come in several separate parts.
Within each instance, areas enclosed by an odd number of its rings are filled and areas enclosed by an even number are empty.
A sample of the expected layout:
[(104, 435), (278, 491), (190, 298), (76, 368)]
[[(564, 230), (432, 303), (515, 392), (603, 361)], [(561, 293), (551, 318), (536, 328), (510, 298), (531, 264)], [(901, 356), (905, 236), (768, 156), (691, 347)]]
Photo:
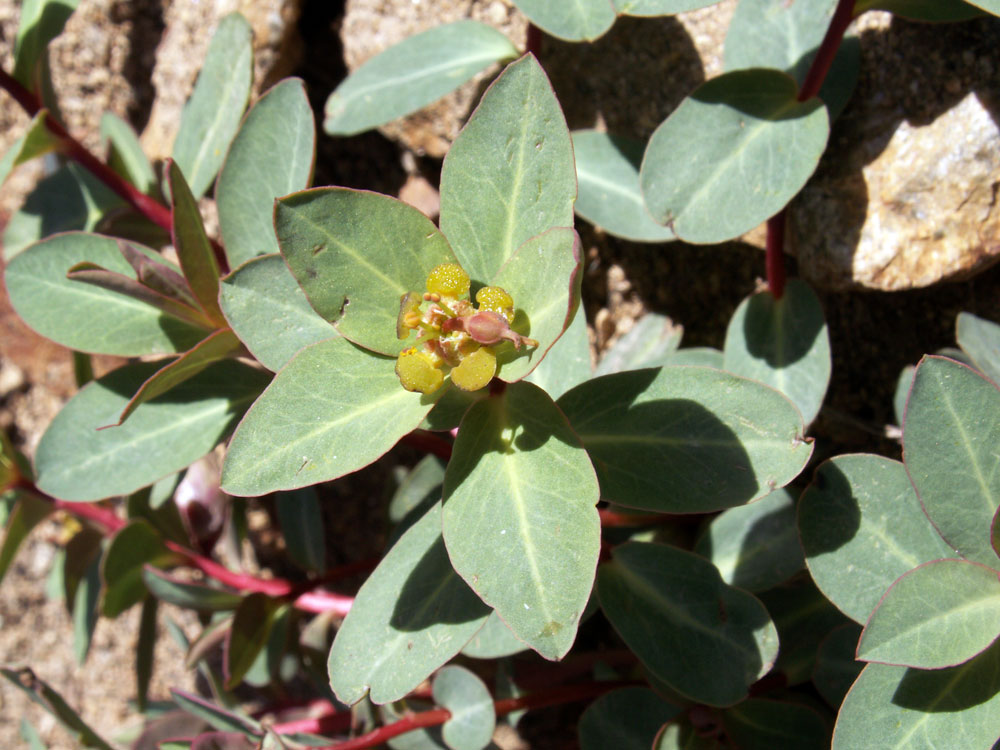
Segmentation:
[(924, 713), (953, 713), (1000, 693), (1000, 641), (967, 662), (945, 669), (907, 668), (893, 704)]

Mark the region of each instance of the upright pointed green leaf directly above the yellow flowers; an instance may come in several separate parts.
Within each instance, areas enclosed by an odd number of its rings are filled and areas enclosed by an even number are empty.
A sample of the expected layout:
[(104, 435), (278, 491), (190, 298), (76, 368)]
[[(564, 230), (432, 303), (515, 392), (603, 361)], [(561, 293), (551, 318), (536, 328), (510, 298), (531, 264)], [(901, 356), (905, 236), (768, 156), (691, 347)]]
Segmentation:
[(522, 57), (486, 91), (445, 157), (441, 231), (473, 282), (489, 284), (527, 240), (573, 226), (575, 198), (566, 120), (541, 66)]

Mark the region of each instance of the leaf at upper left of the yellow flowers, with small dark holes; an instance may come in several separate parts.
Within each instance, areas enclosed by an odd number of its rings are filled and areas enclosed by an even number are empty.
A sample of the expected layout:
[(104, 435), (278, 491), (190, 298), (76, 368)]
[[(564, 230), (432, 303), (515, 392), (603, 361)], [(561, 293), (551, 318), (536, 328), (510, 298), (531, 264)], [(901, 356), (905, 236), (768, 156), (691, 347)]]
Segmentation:
[(274, 211), (285, 262), (313, 309), (344, 336), (395, 356), (399, 299), (422, 293), (427, 274), (453, 263), (448, 241), (412, 206), (378, 193), (318, 188)]

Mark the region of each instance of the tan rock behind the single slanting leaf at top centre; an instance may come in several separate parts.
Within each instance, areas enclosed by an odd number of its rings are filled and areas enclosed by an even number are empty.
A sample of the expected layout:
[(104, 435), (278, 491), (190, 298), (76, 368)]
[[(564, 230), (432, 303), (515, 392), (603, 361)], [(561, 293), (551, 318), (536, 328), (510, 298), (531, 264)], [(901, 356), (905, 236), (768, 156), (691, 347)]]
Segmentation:
[[(524, 49), (527, 20), (507, 0), (347, 0), (340, 29), (347, 69), (357, 70), (407, 37), (463, 18), (499, 29)], [(484, 81), (496, 73), (495, 67), (484, 71), (436, 103), (383, 125), (379, 132), (417, 154), (443, 157), (479, 101)]]

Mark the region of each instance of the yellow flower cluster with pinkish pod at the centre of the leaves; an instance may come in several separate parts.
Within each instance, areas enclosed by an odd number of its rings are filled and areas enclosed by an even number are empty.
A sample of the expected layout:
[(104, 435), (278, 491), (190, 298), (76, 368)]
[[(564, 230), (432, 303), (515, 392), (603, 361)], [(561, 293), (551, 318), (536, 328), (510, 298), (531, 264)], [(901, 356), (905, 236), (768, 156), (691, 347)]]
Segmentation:
[(444, 382), (463, 391), (484, 387), (497, 371), (494, 348), (510, 341), (538, 346), (513, 329), (514, 300), (498, 286), (483, 287), (473, 307), (469, 296), (469, 274), (457, 263), (435, 266), (427, 276), (424, 294), (407, 292), (399, 301), (396, 335), (405, 340), (417, 331), (416, 343), (396, 360), (396, 375), (408, 391), (433, 393)]

